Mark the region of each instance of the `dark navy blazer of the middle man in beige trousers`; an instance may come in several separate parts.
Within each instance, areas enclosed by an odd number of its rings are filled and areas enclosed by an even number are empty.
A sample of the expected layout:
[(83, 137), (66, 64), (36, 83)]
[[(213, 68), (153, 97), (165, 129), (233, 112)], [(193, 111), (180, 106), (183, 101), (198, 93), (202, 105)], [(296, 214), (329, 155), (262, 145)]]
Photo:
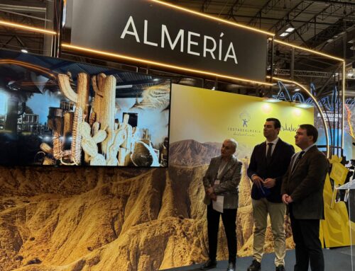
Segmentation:
[[(295, 154), (295, 148), (279, 138), (278, 143), (276, 143), (275, 149), (273, 150), (273, 155), (271, 156), (271, 163), (267, 165), (266, 142), (254, 147), (247, 173), (249, 178), (256, 174), (264, 180), (266, 178), (276, 179), (275, 186), (271, 188), (270, 195), (266, 197), (269, 202), (282, 202), (280, 190), (283, 175), (285, 175), (288, 169), (293, 154)], [(256, 185), (253, 184), (253, 187), (251, 188), (251, 198), (253, 200), (260, 200), (261, 197), (260, 190), (258, 190)]]

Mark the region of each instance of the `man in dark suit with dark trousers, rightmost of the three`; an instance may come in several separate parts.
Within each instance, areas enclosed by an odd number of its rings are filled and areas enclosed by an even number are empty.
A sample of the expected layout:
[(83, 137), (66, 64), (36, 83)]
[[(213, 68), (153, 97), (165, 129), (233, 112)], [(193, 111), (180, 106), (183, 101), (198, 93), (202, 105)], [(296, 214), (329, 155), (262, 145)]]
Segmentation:
[(328, 172), (327, 157), (317, 149), (318, 131), (313, 125), (300, 125), (295, 143), (302, 151), (292, 158), (283, 178), (282, 199), (288, 204), (293, 241), (295, 271), (324, 271), (320, 219), (323, 219), (323, 188)]

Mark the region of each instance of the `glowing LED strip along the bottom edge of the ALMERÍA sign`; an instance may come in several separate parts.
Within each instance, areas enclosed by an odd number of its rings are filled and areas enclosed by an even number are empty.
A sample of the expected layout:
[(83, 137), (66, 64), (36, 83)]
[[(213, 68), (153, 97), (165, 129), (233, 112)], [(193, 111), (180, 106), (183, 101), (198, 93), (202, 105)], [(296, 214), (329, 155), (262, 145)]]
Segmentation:
[(155, 66), (159, 66), (159, 67), (165, 67), (165, 68), (170, 68), (170, 69), (178, 69), (180, 71), (189, 71), (189, 72), (193, 72), (195, 74), (205, 74), (205, 75), (209, 75), (209, 76), (214, 76), (214, 77), (219, 77), (219, 78), (224, 78), (224, 79), (231, 79), (231, 80), (235, 80), (235, 81), (244, 81), (244, 82), (248, 82), (248, 83), (258, 83), (261, 85), (265, 85), (265, 86), (272, 86), (272, 83), (266, 83), (266, 82), (261, 82), (261, 81), (253, 81), (253, 80), (249, 80), (249, 79), (243, 79), (243, 78), (239, 78), (239, 77), (233, 77), (233, 76), (226, 76), (223, 74), (215, 74), (213, 72), (209, 72), (209, 71), (201, 71), (198, 69), (189, 69), (186, 67), (180, 67), (180, 66), (175, 66), (175, 65), (171, 65), (171, 64), (165, 64), (162, 62), (154, 62), (148, 59), (141, 59), (141, 58), (137, 58), (137, 57), (129, 57), (126, 56), (124, 54), (114, 54), (111, 52), (104, 52), (104, 51), (100, 51), (100, 50), (94, 50), (94, 49), (90, 49), (87, 47), (81, 47), (81, 46), (77, 46), (77, 45), (70, 45), (67, 43), (62, 43), (62, 47), (64, 48), (68, 48), (71, 50), (76, 50), (76, 51), (82, 51), (82, 52), (90, 52), (90, 53), (94, 53), (94, 54), (100, 54), (103, 56), (107, 56), (107, 57), (114, 57), (114, 58), (119, 58), (119, 59), (127, 59), (130, 61), (134, 61), (134, 62), (143, 62), (146, 64), (151, 64), (151, 65), (155, 65)]

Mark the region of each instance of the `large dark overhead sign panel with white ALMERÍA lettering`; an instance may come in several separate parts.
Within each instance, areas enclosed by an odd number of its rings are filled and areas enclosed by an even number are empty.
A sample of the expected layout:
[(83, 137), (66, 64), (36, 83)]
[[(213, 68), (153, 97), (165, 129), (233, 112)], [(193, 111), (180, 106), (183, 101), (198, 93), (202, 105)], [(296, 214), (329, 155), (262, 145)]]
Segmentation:
[(67, 0), (66, 9), (72, 45), (265, 81), (266, 34), (149, 0)]

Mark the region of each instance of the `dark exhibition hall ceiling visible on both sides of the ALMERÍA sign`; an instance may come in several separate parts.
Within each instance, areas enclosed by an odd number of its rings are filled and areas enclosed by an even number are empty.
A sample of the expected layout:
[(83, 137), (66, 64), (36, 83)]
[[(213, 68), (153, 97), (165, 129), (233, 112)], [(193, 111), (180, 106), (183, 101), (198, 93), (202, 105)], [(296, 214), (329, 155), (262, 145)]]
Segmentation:
[[(355, 1), (301, 0), (165, 0), (235, 23), (275, 33), (275, 38), (295, 45), (346, 58), (347, 74), (355, 74)], [(53, 28), (58, 14), (53, 0), (1, 0), (0, 20)], [(58, 22), (57, 22), (58, 23)], [(50, 55), (51, 37), (0, 26), (0, 47)], [(271, 54), (271, 52), (269, 52)], [(275, 45), (275, 69), (290, 70), (290, 48)], [(311, 54), (295, 54), (295, 76), (317, 80), (334, 71), (334, 62)], [(354, 67), (354, 69), (353, 69)], [(323, 73), (323, 74), (322, 74)], [(349, 76), (349, 91), (355, 89)], [(184, 81), (185, 79), (182, 79)], [(307, 81), (307, 80), (306, 80)], [(305, 81), (305, 82), (306, 82)]]

